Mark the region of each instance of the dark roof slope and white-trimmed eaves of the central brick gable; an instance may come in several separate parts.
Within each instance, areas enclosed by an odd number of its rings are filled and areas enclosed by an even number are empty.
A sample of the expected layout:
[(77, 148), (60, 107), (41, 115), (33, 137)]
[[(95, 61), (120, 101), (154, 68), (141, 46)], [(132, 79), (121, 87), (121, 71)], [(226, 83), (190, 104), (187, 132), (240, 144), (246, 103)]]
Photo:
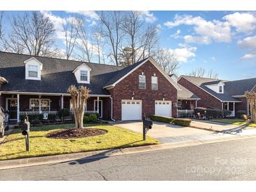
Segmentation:
[(158, 69), (161, 74), (163, 74), (163, 76), (166, 77), (166, 79), (177, 89), (179, 90), (179, 86), (177, 85), (177, 83), (175, 83), (173, 81), (172, 78), (170, 78), (170, 76), (168, 76), (168, 74), (166, 74), (165, 71), (163, 71), (163, 69), (161, 67), (159, 67), (159, 65), (156, 63), (156, 61), (152, 58), (152, 57), (147, 57), (144, 60), (141, 60), (139, 62), (136, 62), (135, 64), (132, 64), (124, 69), (121, 69), (120, 71), (117, 71), (116, 74), (114, 74), (114, 77), (112, 79), (110, 79), (104, 86), (104, 88), (113, 88), (117, 83), (119, 83), (121, 80), (123, 80), (123, 78), (125, 78), (126, 76), (128, 76), (129, 74), (131, 74), (133, 71), (135, 71), (137, 68), (141, 67), (142, 64), (146, 63), (147, 61), (150, 61), (151, 64), (154, 65), (154, 67), (156, 67), (156, 69)]

